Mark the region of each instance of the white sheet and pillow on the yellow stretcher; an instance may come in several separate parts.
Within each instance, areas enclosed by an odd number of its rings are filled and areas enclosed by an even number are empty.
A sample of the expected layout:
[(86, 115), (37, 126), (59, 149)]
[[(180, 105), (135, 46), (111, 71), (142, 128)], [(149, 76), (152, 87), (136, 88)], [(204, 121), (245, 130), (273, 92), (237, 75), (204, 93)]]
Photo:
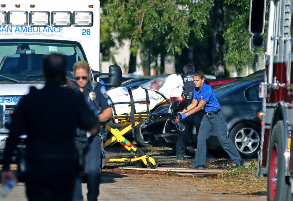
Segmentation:
[[(171, 97), (180, 97), (183, 91), (183, 80), (181, 76), (172, 74), (166, 78), (165, 83), (159, 89), (159, 93), (163, 94), (167, 99)], [(164, 100), (160, 94), (152, 89), (147, 89), (149, 93), (149, 102), (150, 108), (153, 109), (157, 104)], [(146, 101), (146, 92), (143, 88), (138, 87), (137, 89), (133, 89), (132, 96), (134, 101)], [(112, 99), (113, 103), (118, 102), (130, 102), (130, 96), (128, 94), (128, 90), (126, 87), (116, 87), (107, 91), (107, 94)], [(146, 112), (147, 111), (147, 104), (134, 104), (135, 112)], [(115, 104), (115, 112), (117, 115), (121, 114), (130, 114), (130, 107), (129, 104)], [(114, 114), (114, 112), (113, 112)]]

